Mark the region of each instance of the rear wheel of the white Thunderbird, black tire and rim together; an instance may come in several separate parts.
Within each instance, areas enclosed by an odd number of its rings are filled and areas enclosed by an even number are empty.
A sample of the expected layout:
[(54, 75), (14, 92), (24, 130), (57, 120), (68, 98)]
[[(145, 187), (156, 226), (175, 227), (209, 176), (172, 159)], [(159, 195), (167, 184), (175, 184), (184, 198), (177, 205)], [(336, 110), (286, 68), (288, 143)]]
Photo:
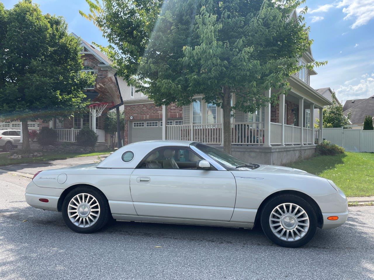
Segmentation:
[(68, 193), (62, 203), (62, 217), (71, 230), (93, 233), (108, 223), (111, 212), (106, 197), (87, 186)]

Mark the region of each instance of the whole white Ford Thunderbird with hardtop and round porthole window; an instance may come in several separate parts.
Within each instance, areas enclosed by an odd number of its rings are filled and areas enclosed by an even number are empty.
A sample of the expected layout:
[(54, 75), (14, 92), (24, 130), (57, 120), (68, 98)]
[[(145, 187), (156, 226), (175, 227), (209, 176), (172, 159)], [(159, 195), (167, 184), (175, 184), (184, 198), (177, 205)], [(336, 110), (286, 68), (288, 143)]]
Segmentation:
[(92, 233), (117, 221), (252, 228), (286, 247), (348, 217), (330, 180), (298, 169), (245, 163), (205, 144), (144, 141), (99, 164), (40, 171), (26, 189), (35, 208), (60, 211), (69, 228)]

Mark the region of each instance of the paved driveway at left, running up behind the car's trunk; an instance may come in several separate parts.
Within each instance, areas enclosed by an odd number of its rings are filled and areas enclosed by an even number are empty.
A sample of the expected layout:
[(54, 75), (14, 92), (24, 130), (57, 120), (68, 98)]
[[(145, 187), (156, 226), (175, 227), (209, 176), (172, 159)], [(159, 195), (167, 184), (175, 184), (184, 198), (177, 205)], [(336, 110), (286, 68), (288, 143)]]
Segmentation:
[[(101, 159), (104, 159), (107, 156), (108, 155), (100, 155)], [(56, 159), (54, 161), (30, 162), (30, 163), (25, 163), (25, 164), (6, 165), (6, 166), (0, 166), (0, 169), (34, 175), (36, 172), (40, 170), (64, 168), (64, 167), (69, 167), (69, 166), (78, 165), (78, 164), (89, 164), (95, 161), (96, 162), (98, 161), (97, 156), (82, 156), (79, 158)]]

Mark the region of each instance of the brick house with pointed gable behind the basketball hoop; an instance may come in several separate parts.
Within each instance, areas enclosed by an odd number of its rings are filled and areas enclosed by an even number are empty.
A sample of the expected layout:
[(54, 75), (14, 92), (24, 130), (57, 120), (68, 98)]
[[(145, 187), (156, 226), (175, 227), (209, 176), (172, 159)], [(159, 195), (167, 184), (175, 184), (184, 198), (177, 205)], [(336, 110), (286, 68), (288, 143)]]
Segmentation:
[[(95, 98), (99, 95), (98, 92), (98, 85), (103, 83), (108, 77), (113, 77), (116, 74), (116, 70), (113, 69), (111, 65), (111, 61), (93, 47), (91, 44), (79, 38), (74, 33), (71, 34), (72, 36), (78, 38), (81, 41), (82, 54), (83, 58), (83, 69), (82, 71), (91, 72), (92, 74), (97, 75), (95, 79), (95, 83), (90, 85), (88, 88), (85, 89), (84, 93), (86, 94), (86, 98), (84, 101), (96, 101)], [(131, 85), (128, 85), (122, 78), (117, 77), (117, 82), (119, 86), (119, 90), (122, 96), (122, 100), (132, 99), (141, 97), (142, 94), (136, 93), (135, 88)], [(123, 106), (120, 107), (120, 111), (123, 111)], [(110, 136), (104, 132), (104, 118), (107, 114), (108, 109), (105, 109), (101, 116), (94, 118), (91, 113), (87, 113), (83, 116), (74, 116), (71, 118), (53, 118), (50, 122), (44, 123), (42, 120), (39, 122), (30, 122), (30, 125), (34, 125), (30, 127), (30, 130), (36, 129), (39, 130), (42, 127), (49, 127), (53, 128), (57, 133), (57, 141), (58, 142), (75, 142), (76, 135), (82, 128), (91, 128), (98, 134), (98, 140), (95, 146), (96, 150), (105, 150), (110, 143)], [(10, 124), (10, 127), (13, 125), (20, 124)], [(94, 125), (94, 127), (93, 127)], [(21, 137), (22, 139), (22, 137)]]

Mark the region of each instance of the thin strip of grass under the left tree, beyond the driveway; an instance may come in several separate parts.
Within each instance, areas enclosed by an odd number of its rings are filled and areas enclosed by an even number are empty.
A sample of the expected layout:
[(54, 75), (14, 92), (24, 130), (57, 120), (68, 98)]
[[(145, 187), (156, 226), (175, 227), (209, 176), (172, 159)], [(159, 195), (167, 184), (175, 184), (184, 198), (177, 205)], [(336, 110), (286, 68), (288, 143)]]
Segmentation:
[(98, 156), (98, 155), (105, 155), (110, 152), (113, 152), (113, 150), (94, 152), (94, 153), (42, 152), (43, 155), (38, 158), (19, 158), (19, 159), (9, 159), (7, 158), (9, 153), (2, 153), (0, 155), (0, 166), (10, 165), (10, 164), (22, 164), (22, 163), (27, 163), (27, 162), (51, 161), (53, 159), (79, 158), (80, 156)]

